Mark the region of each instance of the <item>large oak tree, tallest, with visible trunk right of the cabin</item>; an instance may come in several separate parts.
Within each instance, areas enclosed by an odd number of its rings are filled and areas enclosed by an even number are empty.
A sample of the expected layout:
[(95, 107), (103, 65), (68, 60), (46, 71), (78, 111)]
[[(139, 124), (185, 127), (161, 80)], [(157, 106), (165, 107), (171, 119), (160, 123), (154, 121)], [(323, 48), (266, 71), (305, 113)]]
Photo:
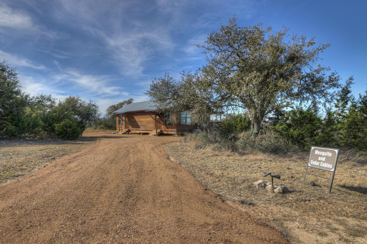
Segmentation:
[[(208, 35), (204, 48), (206, 71), (215, 77), (227, 104), (247, 109), (254, 135), (275, 109), (305, 102), (326, 104), (340, 87), (339, 76), (319, 64), (329, 44), (315, 46), (314, 38), (272, 31), (263, 25), (241, 27), (235, 18)], [(314, 47), (315, 46), (315, 47)]]

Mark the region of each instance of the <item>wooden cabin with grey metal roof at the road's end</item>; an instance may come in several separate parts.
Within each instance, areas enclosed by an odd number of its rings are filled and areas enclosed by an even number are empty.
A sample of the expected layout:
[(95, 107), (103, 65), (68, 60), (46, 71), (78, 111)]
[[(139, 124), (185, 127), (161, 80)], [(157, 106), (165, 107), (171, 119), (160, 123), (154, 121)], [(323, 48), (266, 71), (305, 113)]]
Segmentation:
[(157, 112), (155, 102), (152, 100), (132, 102), (116, 110), (116, 132), (127, 134), (149, 133), (159, 134), (182, 134), (197, 129), (196, 124), (190, 124), (190, 113), (182, 112), (175, 123), (170, 123), (168, 115)]

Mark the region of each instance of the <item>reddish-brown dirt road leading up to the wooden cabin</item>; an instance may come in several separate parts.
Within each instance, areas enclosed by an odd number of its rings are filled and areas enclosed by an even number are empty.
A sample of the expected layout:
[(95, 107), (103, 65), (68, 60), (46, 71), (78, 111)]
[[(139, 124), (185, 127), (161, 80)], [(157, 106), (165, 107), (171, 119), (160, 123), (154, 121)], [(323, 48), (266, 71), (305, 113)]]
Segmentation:
[(0, 185), (0, 243), (285, 243), (170, 161), (170, 136), (97, 144)]

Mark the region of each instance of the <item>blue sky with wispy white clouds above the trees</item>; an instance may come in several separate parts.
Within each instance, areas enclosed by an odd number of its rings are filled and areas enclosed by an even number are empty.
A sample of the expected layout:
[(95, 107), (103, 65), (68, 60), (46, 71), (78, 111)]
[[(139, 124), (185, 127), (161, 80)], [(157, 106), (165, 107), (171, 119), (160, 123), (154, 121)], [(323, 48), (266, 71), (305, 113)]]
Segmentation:
[(205, 56), (194, 44), (228, 23), (263, 22), (274, 30), (330, 43), (322, 64), (353, 93), (367, 88), (366, 1), (0, 1), (0, 60), (18, 67), (24, 90), (63, 100), (79, 95), (101, 112), (127, 98), (146, 100), (151, 80), (195, 71)]

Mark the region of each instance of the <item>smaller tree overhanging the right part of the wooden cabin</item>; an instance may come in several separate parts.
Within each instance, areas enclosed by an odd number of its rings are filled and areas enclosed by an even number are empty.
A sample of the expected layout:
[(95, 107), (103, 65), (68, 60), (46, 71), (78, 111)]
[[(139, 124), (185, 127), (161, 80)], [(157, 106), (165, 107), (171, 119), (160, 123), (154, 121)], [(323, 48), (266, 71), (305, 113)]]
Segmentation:
[(152, 81), (146, 94), (156, 101), (161, 113), (170, 114), (171, 122), (177, 119), (174, 115), (189, 111), (192, 113), (191, 123), (207, 126), (210, 115), (220, 112), (223, 107), (223, 99), (211, 89), (211, 83), (211, 78), (204, 76), (201, 70), (182, 72), (179, 80), (166, 73)]

